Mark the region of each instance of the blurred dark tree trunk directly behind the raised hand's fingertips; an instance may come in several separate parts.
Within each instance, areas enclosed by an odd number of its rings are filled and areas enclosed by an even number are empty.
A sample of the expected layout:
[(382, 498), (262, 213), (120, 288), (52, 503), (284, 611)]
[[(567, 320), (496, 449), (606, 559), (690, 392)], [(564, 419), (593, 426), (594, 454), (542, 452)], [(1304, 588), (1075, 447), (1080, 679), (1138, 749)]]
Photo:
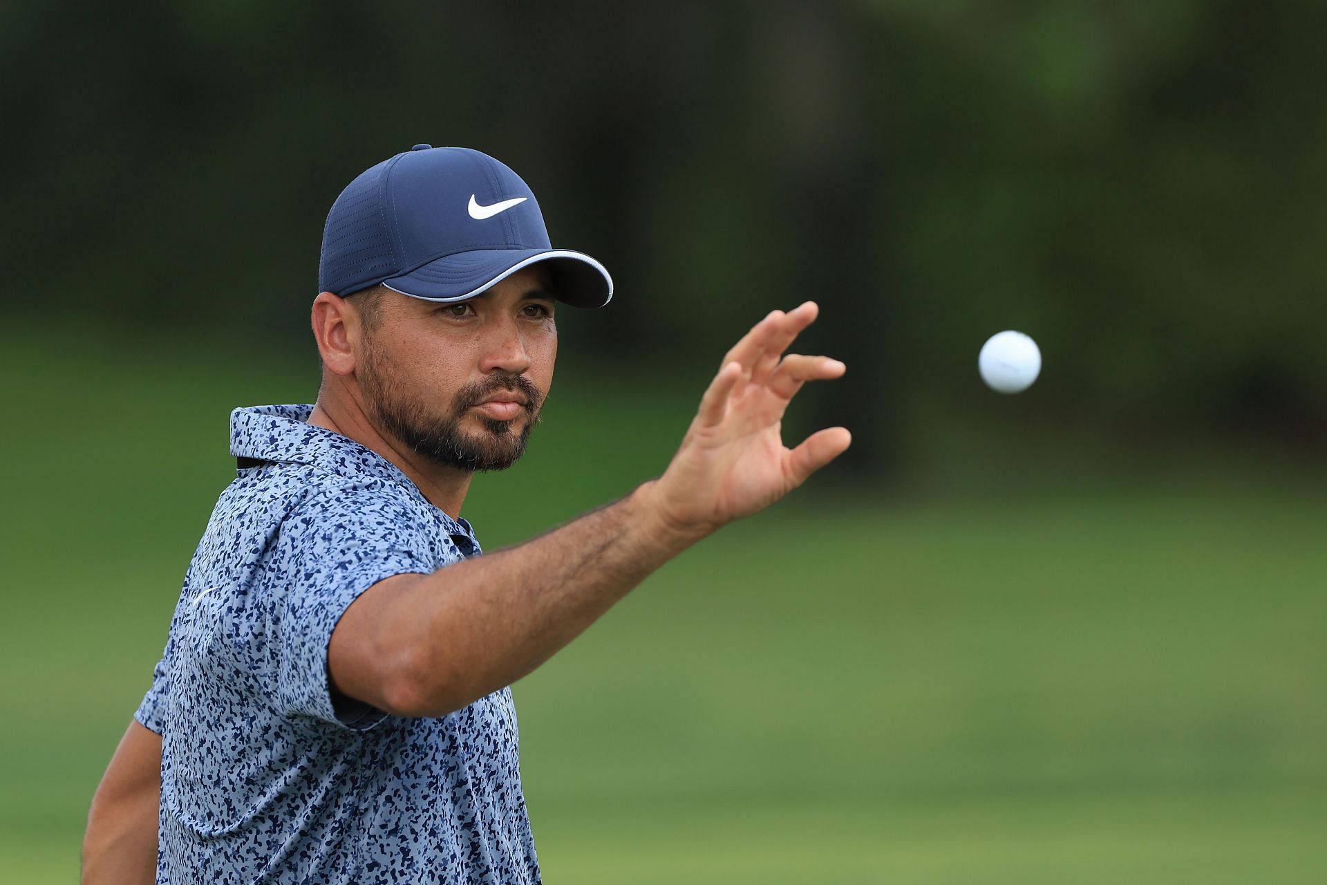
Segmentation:
[(843, 456), (853, 480), (888, 474), (894, 464), (898, 402), (890, 381), (896, 304), (901, 297), (892, 243), (893, 170), (880, 146), (884, 115), (868, 92), (872, 33), (840, 4), (780, 0), (764, 5), (751, 28), (771, 218), (788, 244), (779, 261), (791, 306), (821, 305), (816, 333), (849, 372), (816, 390), (811, 426), (847, 425), (853, 446)]

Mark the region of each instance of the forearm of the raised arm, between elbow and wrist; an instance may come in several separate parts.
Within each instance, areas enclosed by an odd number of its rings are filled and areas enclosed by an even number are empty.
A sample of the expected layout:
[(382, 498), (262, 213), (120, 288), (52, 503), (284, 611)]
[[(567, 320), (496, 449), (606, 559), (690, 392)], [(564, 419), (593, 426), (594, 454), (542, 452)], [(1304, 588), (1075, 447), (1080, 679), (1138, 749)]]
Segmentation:
[(652, 486), (406, 588), (384, 620), (413, 650), (405, 705), (442, 715), (515, 682), (698, 540), (660, 521)]

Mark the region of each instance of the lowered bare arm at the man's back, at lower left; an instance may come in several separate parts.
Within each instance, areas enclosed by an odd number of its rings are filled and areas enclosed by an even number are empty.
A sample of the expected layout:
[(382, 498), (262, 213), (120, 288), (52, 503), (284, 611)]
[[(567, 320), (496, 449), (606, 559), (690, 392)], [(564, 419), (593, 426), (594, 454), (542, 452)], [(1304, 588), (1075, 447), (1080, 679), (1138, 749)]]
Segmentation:
[(161, 735), (130, 722), (88, 811), (82, 885), (157, 881), (161, 785)]

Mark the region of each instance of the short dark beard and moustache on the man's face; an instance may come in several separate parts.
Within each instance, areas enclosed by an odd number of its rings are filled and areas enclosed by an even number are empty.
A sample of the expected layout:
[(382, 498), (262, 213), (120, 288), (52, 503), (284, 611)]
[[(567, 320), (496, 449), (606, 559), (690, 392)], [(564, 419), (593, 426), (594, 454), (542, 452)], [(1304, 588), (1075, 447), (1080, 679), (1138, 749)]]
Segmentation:
[[(456, 391), (446, 414), (430, 415), (418, 401), (406, 394), (410, 385), (399, 383), (386, 361), (380, 361), (376, 349), (365, 354), (360, 386), (364, 390), (369, 418), (381, 431), (410, 447), (435, 464), (466, 472), (507, 470), (525, 454), (525, 441), (540, 419), (543, 394), (524, 375), (499, 372), (471, 382)], [(519, 431), (514, 425), (520, 419), (495, 421), (478, 414), (482, 430), (468, 433), (460, 427), (466, 413), (492, 394), (519, 391), (525, 397), (525, 422)]]

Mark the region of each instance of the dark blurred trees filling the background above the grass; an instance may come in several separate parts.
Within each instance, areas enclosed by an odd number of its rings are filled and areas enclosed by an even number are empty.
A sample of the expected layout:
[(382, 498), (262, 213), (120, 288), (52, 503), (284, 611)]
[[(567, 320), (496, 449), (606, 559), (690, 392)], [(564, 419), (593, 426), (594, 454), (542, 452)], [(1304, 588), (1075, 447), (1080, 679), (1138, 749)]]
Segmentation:
[(340, 188), (471, 145), (613, 269), (583, 328), (624, 372), (707, 375), (820, 300), (805, 346), (853, 370), (813, 419), (853, 425), (860, 471), (920, 403), (967, 407), (1011, 326), (1047, 357), (1030, 409), (1322, 442), (1324, 25), (1290, 0), (7, 4), (0, 243), (44, 296), (21, 321), (308, 349)]

